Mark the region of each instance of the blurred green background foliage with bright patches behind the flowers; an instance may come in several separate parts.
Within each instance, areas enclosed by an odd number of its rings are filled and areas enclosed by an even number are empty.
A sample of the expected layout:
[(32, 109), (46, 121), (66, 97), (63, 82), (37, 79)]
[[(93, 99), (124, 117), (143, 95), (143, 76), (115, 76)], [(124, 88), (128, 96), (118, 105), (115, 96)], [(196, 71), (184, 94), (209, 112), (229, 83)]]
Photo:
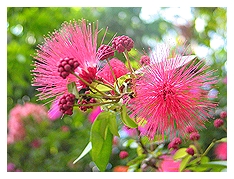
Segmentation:
[[(218, 82), (210, 89), (211, 100), (219, 102), (214, 111), (214, 118), (227, 107), (227, 8), (134, 8), (134, 7), (8, 7), (7, 8), (7, 113), (16, 104), (37, 101), (37, 91), (31, 86), (33, 56), (43, 36), (59, 29), (64, 21), (87, 19), (89, 22), (98, 20), (100, 32), (99, 43), (108, 27), (104, 43), (117, 35), (128, 35), (135, 41), (134, 58), (139, 59), (143, 49), (153, 48), (160, 42), (178, 42), (186, 40), (191, 44), (193, 53), (205, 59), (212, 69)], [(122, 56), (119, 56), (123, 59)], [(213, 99), (212, 95), (218, 94)], [(50, 104), (46, 107), (49, 109)], [(81, 153), (89, 141), (91, 123), (87, 120), (88, 113), (76, 111), (73, 117), (65, 116), (56, 121), (48, 121), (47, 125), (35, 125), (35, 133), (28, 134), (24, 141), (8, 145), (8, 162), (14, 163), (22, 171), (95, 171), (91, 157), (86, 155), (77, 164), (72, 162)], [(210, 119), (213, 120), (213, 119)], [(61, 131), (62, 126), (69, 130)], [(201, 131), (200, 143), (207, 147), (213, 138), (225, 137), (222, 130), (214, 130), (213, 123), (206, 124), (207, 130)], [(32, 138), (41, 138), (42, 145), (30, 147)], [(203, 137), (202, 137), (203, 136)], [(121, 139), (126, 142), (127, 138)], [(113, 148), (108, 170), (114, 166), (126, 164), (126, 160), (134, 157), (135, 150), (129, 151), (128, 159), (120, 160), (118, 153), (124, 147)], [(209, 154), (213, 157), (212, 154)]]

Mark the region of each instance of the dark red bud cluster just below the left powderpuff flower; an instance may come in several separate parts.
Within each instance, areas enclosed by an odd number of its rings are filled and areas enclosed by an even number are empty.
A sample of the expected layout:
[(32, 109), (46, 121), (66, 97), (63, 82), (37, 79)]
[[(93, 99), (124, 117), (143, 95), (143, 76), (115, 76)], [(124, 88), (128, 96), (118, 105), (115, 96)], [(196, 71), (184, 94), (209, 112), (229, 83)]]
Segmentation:
[(59, 110), (63, 114), (72, 115), (75, 103), (75, 95), (71, 93), (64, 94), (59, 100)]

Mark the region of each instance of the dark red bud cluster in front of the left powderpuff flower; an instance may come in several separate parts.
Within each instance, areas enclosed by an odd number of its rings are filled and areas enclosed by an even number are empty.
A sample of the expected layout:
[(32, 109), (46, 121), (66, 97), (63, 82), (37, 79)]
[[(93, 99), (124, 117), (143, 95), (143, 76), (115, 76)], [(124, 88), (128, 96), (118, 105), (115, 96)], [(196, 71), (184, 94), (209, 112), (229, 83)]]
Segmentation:
[(58, 72), (59, 75), (63, 78), (66, 79), (67, 76), (71, 73), (74, 72), (74, 70), (79, 66), (80, 64), (78, 63), (77, 60), (74, 58), (64, 58), (60, 60), (59, 65), (58, 65)]

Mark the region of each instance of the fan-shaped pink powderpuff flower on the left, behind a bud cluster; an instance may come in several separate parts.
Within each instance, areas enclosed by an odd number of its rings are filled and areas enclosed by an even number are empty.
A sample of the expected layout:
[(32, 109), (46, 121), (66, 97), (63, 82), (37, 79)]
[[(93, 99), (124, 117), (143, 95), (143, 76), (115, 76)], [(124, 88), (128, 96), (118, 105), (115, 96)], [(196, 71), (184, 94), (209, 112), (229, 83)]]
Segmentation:
[(32, 71), (32, 85), (39, 87), (40, 100), (59, 98), (68, 93), (67, 84), (70, 82), (75, 82), (78, 90), (83, 87), (82, 82), (73, 74), (66, 74), (64, 78), (60, 76), (58, 67), (62, 60), (72, 59), (73, 62), (78, 62), (78, 67), (72, 69), (76, 75), (82, 75), (85, 79), (95, 78), (93, 71), (96, 72), (99, 61), (96, 58), (97, 34), (98, 29), (93, 31), (92, 25), (87, 25), (85, 20), (65, 22), (60, 30), (50, 34), (45, 38), (44, 44), (38, 46), (34, 57), (36, 61)]

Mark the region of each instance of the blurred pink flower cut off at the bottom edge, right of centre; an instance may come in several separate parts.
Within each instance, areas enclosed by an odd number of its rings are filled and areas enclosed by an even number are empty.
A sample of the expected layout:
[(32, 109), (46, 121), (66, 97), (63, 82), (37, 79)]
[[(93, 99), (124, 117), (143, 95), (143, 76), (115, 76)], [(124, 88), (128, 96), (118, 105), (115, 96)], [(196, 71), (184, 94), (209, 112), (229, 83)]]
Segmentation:
[(159, 172), (179, 172), (180, 161), (174, 161), (172, 156), (163, 155), (159, 164)]

